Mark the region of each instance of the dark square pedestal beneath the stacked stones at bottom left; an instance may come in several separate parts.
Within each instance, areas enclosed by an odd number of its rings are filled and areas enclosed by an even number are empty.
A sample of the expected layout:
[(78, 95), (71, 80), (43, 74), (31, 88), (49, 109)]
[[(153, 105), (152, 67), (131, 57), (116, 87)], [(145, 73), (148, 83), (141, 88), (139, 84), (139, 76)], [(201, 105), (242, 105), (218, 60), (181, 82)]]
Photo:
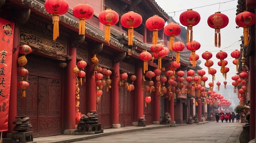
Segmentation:
[(11, 134), (11, 143), (27, 143), (33, 141), (33, 131), (14, 132)]

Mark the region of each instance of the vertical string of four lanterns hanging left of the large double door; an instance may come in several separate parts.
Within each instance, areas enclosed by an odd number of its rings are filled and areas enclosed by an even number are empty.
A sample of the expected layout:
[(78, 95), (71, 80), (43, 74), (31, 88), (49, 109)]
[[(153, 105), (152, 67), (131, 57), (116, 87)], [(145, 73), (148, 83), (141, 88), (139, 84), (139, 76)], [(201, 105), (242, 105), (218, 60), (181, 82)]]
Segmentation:
[(29, 82), (27, 82), (27, 78), (24, 79), (25, 76), (28, 76), (29, 71), (25, 69), (23, 66), (27, 64), (27, 58), (26, 55), (30, 54), (32, 52), (29, 45), (20, 45), (18, 47), (19, 53), (22, 54), (18, 58), (18, 65), (20, 65), (20, 68), (18, 69), (18, 75), (21, 76), (21, 80), (17, 83), (17, 87), (21, 90), (20, 94), (23, 98), (26, 97), (26, 89), (29, 87)]

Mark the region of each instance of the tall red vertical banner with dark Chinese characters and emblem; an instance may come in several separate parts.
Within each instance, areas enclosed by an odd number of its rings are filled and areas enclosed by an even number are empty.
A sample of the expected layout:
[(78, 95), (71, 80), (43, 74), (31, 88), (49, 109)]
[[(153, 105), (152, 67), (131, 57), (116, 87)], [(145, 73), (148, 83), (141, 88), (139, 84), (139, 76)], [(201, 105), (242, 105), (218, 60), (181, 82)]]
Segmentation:
[(0, 132), (8, 131), (14, 23), (0, 18)]

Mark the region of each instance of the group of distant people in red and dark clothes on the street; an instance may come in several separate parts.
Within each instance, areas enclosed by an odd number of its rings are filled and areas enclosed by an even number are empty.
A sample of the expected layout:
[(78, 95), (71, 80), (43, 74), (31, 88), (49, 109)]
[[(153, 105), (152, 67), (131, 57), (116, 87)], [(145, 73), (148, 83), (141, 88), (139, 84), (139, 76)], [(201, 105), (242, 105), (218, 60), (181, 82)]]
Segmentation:
[(236, 122), (239, 122), (239, 119), (240, 119), (240, 115), (239, 114), (235, 114), (234, 112), (232, 112), (232, 114), (229, 112), (229, 113), (216, 113), (215, 115), (215, 119), (217, 121), (217, 123), (219, 122), (219, 119), (221, 119), (221, 122), (223, 122), (224, 120), (226, 121), (229, 121), (229, 123), (231, 123), (231, 119), (232, 119), (232, 122), (234, 122), (234, 120), (236, 119)]

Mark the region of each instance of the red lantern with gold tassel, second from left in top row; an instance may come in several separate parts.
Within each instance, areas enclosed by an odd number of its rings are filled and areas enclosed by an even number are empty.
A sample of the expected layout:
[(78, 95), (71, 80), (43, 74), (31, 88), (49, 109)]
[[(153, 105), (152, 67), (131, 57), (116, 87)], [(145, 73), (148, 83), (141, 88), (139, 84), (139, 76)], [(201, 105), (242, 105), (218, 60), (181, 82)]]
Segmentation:
[(79, 35), (85, 35), (85, 20), (92, 18), (94, 9), (86, 3), (77, 4), (73, 8), (73, 15), (79, 19)]

